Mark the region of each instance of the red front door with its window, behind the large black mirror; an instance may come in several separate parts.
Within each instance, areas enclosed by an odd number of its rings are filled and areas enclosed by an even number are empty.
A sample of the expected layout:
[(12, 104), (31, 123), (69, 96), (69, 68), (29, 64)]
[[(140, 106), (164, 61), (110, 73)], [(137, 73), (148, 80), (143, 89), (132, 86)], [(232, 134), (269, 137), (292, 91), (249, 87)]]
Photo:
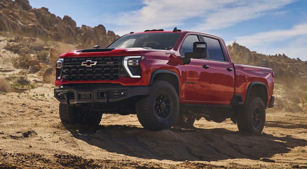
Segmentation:
[[(193, 52), (193, 42), (203, 41), (199, 34), (189, 34), (185, 37), (179, 53), (184, 57), (186, 52)], [(181, 92), (180, 103), (204, 104), (210, 100), (210, 63), (207, 59), (193, 59), (188, 65), (180, 66)]]

